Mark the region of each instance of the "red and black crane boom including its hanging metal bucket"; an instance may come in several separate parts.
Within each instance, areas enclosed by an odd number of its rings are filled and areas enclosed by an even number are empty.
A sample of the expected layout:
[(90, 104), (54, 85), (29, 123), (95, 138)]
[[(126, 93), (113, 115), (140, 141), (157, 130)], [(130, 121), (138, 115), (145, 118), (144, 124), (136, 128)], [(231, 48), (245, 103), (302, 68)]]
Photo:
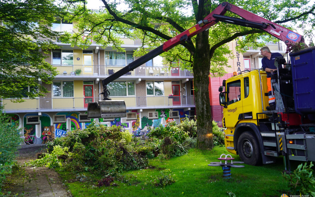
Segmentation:
[[(241, 16), (243, 19), (233, 18), (224, 16), (226, 11), (230, 11), (234, 14)], [(186, 31), (180, 33), (174, 38), (169, 39), (164, 42), (161, 46), (153, 49), (146, 55), (143, 55), (139, 59), (131, 62), (126, 67), (122, 68), (118, 72), (115, 72), (111, 76), (102, 80), (103, 84), (103, 101), (90, 102), (88, 105), (88, 118), (115, 118), (115, 117), (126, 117), (126, 106), (124, 101), (111, 101), (109, 98), (109, 91), (107, 90), (107, 84), (114, 81), (115, 79), (121, 77), (139, 67), (140, 65), (146, 63), (147, 61), (153, 59), (157, 55), (162, 54), (169, 49), (172, 49), (176, 45), (189, 41), (190, 38), (197, 35), (200, 32), (208, 30), (209, 27), (215, 25), (219, 21), (232, 23), (236, 25), (252, 27), (256, 29), (262, 29), (272, 36), (284, 41), (286, 45), (296, 42), (304, 42), (303, 37), (300, 34), (290, 31), (287, 28), (277, 25), (269, 20), (266, 20), (260, 16), (257, 16), (251, 12), (241, 9), (231, 3), (223, 2), (216, 9), (214, 9), (210, 14), (208, 14), (203, 20), (199, 21), (195, 26), (187, 29)]]

